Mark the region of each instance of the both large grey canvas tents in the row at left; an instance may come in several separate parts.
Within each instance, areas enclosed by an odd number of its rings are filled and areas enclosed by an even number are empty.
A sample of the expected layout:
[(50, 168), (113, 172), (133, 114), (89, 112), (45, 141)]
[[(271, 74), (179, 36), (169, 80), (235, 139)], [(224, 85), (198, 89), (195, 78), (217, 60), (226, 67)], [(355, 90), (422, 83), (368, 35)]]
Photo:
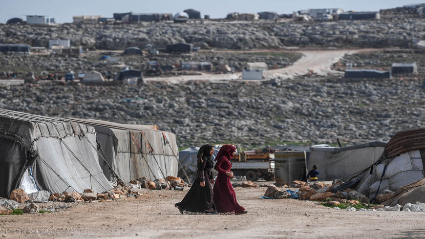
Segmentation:
[(143, 176), (177, 175), (175, 135), (156, 126), (0, 109), (0, 196), (15, 188), (104, 192)]

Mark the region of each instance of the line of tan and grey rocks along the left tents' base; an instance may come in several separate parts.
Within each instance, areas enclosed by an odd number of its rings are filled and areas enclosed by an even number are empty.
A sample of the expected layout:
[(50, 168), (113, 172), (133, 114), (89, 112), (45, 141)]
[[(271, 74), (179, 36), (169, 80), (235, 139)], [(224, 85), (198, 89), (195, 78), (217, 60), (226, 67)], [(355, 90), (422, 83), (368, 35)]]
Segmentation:
[[(150, 190), (183, 190), (183, 187), (189, 186), (183, 179), (174, 176), (168, 176), (166, 179), (156, 179), (151, 181), (147, 177), (141, 177), (137, 180), (131, 180), (126, 186), (117, 186), (103, 193), (95, 193), (91, 189), (85, 189), (83, 193), (63, 192), (50, 194), (48, 191), (38, 191), (36, 193), (26, 194), (22, 189), (14, 189), (9, 199), (0, 198), (0, 215), (9, 215), (14, 209), (18, 209), (21, 203), (30, 203), (22, 208), (23, 213), (39, 213), (40, 207), (37, 203), (47, 201), (54, 202), (105, 202), (119, 198), (137, 197), (148, 193)], [(69, 206), (62, 205), (59, 209)], [(43, 208), (43, 211), (54, 212), (57, 207)]]

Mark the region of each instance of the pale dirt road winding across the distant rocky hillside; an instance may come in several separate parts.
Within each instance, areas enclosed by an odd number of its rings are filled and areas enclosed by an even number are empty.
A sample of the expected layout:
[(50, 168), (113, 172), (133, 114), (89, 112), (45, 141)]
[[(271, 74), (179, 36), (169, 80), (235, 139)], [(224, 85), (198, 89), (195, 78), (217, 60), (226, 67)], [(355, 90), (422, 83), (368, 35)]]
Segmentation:
[[(302, 57), (294, 63), (285, 68), (266, 70), (263, 76), (270, 80), (271, 78), (292, 78), (297, 75), (305, 75), (310, 71), (314, 71), (317, 75), (337, 74), (341, 75), (343, 72), (331, 70), (330, 66), (339, 61), (345, 54), (354, 54), (364, 51), (373, 51), (378, 49), (350, 49), (350, 50), (305, 50), (305, 51), (291, 51), (302, 53)], [(268, 51), (268, 50), (263, 50)], [(170, 76), (170, 77), (151, 77), (145, 78), (146, 81), (162, 81), (169, 83), (180, 83), (193, 80), (201, 81), (230, 81), (242, 78), (242, 73), (237, 72), (234, 74), (207, 74), (190, 75), (190, 76)], [(248, 80), (253, 81), (253, 80)]]

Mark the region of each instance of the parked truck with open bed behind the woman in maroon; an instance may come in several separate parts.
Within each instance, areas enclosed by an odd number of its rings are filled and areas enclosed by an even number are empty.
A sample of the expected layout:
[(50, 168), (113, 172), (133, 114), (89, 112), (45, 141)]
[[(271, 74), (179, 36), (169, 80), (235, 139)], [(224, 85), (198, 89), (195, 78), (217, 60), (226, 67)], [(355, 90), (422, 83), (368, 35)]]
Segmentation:
[[(214, 146), (220, 149), (224, 144)], [(274, 154), (268, 152), (242, 152), (239, 144), (231, 144), (236, 154), (231, 159), (232, 172), (235, 176), (245, 176), (247, 180), (256, 181), (263, 178), (267, 181), (275, 179)]]

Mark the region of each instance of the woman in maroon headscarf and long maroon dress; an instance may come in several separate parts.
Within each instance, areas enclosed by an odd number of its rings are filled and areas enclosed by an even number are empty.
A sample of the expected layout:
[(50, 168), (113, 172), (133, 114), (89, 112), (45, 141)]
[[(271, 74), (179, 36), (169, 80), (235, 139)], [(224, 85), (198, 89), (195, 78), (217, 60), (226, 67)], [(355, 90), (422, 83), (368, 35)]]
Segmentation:
[(229, 213), (234, 212), (235, 214), (246, 214), (245, 208), (241, 207), (236, 201), (236, 194), (234, 192), (232, 183), (230, 183), (230, 177), (233, 176), (233, 172), (230, 171), (232, 163), (230, 159), (233, 157), (236, 148), (232, 145), (224, 145), (215, 156), (215, 167), (214, 169), (218, 172), (217, 179), (213, 188), (213, 200), (217, 212)]

